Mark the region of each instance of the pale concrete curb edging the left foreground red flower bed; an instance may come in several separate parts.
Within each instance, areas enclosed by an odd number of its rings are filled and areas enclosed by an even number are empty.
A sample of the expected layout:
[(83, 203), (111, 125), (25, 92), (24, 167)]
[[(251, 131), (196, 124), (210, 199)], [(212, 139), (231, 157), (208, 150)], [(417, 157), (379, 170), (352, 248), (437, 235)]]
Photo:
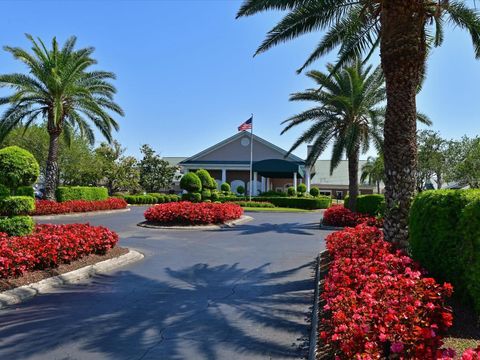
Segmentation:
[(0, 292), (0, 309), (8, 305), (19, 304), (39, 294), (49, 293), (58, 286), (75, 284), (96, 274), (108, 273), (121, 266), (139, 261), (143, 259), (143, 257), (143, 254), (130, 249), (128, 253), (113, 259), (100, 261), (96, 264), (88, 265), (62, 275), (53, 276), (36, 283)]

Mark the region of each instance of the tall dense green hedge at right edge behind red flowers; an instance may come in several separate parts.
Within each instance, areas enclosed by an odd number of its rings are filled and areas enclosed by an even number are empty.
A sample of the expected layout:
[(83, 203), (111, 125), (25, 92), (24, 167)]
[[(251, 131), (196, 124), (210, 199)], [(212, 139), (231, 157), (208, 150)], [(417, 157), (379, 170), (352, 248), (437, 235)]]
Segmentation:
[(413, 258), (480, 314), (480, 190), (420, 193), (409, 229)]

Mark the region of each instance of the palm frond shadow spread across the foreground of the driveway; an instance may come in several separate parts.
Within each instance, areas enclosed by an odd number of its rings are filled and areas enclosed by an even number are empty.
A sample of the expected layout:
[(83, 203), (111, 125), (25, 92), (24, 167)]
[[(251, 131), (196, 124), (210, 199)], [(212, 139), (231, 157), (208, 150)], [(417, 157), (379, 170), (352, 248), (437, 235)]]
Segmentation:
[(314, 280), (299, 273), (312, 266), (196, 264), (163, 269), (164, 282), (96, 276), (1, 310), (0, 358), (301, 358)]

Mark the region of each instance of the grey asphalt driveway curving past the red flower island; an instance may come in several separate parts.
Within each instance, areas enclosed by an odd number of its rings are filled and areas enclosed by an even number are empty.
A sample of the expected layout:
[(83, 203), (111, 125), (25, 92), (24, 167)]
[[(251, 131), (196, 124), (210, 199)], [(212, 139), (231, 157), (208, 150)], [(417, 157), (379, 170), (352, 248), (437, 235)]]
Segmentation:
[(145, 259), (0, 310), (0, 359), (305, 356), (320, 213), (174, 231), (137, 227), (144, 210), (62, 220), (108, 226)]

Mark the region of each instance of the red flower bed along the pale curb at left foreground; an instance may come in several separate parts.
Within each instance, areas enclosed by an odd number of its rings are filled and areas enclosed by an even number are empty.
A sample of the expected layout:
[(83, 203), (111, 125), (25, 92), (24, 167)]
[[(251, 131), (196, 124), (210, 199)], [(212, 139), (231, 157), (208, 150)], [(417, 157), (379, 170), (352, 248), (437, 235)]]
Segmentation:
[(88, 254), (103, 255), (117, 242), (113, 231), (88, 224), (37, 225), (27, 236), (0, 233), (0, 278), (53, 268)]

